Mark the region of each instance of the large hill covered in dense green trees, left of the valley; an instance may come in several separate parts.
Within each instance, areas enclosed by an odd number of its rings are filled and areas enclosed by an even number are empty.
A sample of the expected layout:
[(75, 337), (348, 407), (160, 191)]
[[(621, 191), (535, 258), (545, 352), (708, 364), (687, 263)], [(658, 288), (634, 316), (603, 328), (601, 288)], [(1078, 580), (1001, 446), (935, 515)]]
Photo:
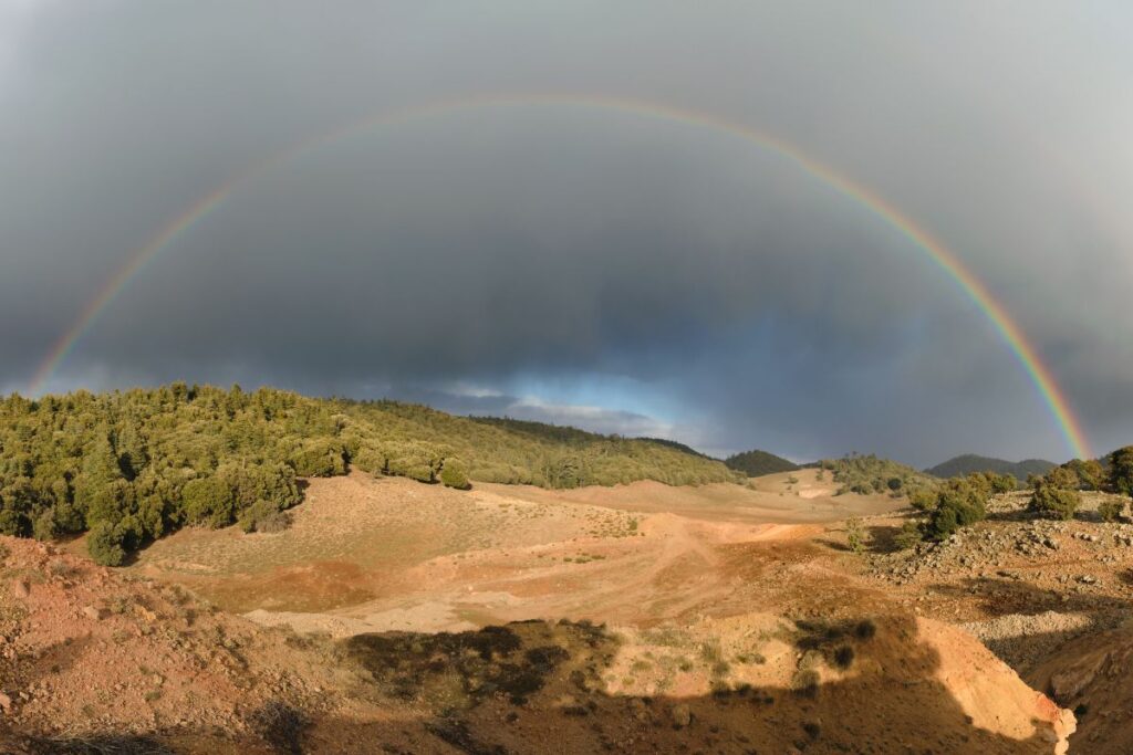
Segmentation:
[(387, 401), (185, 384), (0, 400), (0, 533), (90, 530), (103, 564), (186, 524), (281, 526), (301, 499), (297, 478), (350, 466), (455, 488), (734, 479), (721, 462), (650, 440)]

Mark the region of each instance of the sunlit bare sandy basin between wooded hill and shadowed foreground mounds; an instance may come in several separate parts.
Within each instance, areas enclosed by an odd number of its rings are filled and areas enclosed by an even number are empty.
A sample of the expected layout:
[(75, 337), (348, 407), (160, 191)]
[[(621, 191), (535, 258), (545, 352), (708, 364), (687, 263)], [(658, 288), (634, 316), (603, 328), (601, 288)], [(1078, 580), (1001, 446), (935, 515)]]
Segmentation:
[(649, 626), (734, 611), (742, 597), (766, 603), (753, 572), (817, 556), (808, 540), (821, 522), (895, 507), (883, 497), (804, 498), (813, 477), (777, 475), (763, 490), (458, 492), (352, 474), (312, 481), (284, 533), (186, 531), (133, 569), (257, 621), (334, 635), (526, 618)]

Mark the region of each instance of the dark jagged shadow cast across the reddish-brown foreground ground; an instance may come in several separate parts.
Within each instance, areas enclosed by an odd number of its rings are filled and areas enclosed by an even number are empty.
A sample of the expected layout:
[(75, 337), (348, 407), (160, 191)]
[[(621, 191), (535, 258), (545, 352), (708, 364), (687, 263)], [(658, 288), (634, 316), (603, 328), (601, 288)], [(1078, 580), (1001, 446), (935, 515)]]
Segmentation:
[[(230, 732), (155, 731), (135, 737), (133, 749), (57, 739), (60, 749), (45, 750), (25, 739), (12, 752), (196, 753), (210, 744), (211, 752), (247, 755), (1053, 752), (1049, 728), (1016, 739), (977, 726), (939, 680), (940, 657), (912, 617), (795, 626), (780, 637), (798, 663), (789, 683), (717, 678), (708, 694), (691, 696), (607, 694), (624, 641), (585, 621), (359, 635), (337, 645), (337, 662), (353, 671), (358, 700), (384, 704), (390, 715), (329, 720), (284, 711), (288, 736), (274, 743), (252, 720)], [(241, 733), (248, 730), (259, 733)]]

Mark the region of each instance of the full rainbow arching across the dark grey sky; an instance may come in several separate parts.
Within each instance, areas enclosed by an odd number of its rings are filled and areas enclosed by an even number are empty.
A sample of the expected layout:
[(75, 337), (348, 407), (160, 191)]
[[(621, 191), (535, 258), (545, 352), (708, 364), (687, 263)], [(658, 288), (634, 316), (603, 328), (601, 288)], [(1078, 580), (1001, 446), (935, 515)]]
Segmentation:
[(903, 215), (896, 207), (875, 194), (871, 189), (838, 174), (833, 169), (819, 163), (802, 153), (798, 147), (749, 128), (742, 123), (723, 118), (684, 110), (654, 102), (613, 98), (578, 94), (508, 94), (476, 96), (468, 98), (445, 100), (423, 105), (374, 113), (343, 127), (318, 134), (286, 147), (266, 160), (236, 173), (228, 182), (218, 187), (198, 199), (191, 207), (174, 217), (144, 247), (138, 249), (130, 259), (107, 282), (102, 291), (83, 310), (53, 345), (43, 360), (31, 383), (29, 392), (39, 395), (75, 345), (87, 333), (100, 315), (109, 307), (121, 291), (129, 285), (138, 273), (167, 249), (172, 241), (184, 235), (202, 218), (216, 209), (231, 194), (288, 161), (308, 153), (321, 146), (339, 139), (357, 135), (370, 129), (397, 126), (418, 119), (453, 114), (460, 111), (484, 108), (518, 108), (518, 106), (564, 106), (583, 108), (598, 111), (614, 111), (709, 129), (755, 144), (768, 149), (782, 158), (793, 163), (810, 175), (823, 181), (828, 187), (843, 195), (849, 200), (868, 209), (884, 220), (889, 226), (903, 234), (912, 246), (920, 250), (940, 271), (951, 277), (960, 290), (976, 304), (991, 323), (1003, 342), (1011, 349), (1015, 359), (1023, 368), (1030, 381), (1034, 385), (1050, 415), (1058, 426), (1065, 439), (1067, 449), (1077, 458), (1091, 458), (1089, 445), (1081, 423), (1071, 410), (1070, 402), (1058, 387), (1050, 369), (1042, 363), (1034, 346), (1026, 340), (1023, 331), (1015, 324), (1007, 310), (999, 304), (987, 286), (940, 241), (932, 238), (926, 230)]

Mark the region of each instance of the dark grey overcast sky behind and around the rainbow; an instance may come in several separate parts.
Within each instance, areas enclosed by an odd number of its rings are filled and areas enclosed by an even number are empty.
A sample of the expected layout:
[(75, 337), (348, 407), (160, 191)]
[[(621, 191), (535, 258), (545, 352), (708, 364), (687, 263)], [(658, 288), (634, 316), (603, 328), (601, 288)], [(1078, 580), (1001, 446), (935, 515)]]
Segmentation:
[[(0, 389), (288, 145), (573, 93), (759, 129), (885, 197), (983, 281), (1102, 453), (1133, 443), (1131, 33), (1126, 2), (0, 0)], [(988, 320), (877, 214), (722, 131), (564, 104), (273, 163), (46, 388), (172, 379), (714, 454), (1070, 455)]]

